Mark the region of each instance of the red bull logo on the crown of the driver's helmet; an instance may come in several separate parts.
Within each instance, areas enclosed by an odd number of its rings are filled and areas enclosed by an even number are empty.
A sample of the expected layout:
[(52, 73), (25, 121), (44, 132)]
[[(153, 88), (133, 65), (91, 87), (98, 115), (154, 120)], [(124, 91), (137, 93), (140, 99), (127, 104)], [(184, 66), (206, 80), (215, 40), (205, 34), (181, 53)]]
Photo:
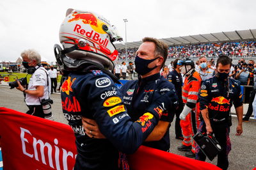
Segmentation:
[(92, 26), (98, 27), (97, 18), (92, 15), (92, 13), (77, 13), (74, 12), (72, 14), (73, 18), (68, 20), (68, 22), (72, 22), (74, 20), (82, 20), (84, 24), (90, 24)]

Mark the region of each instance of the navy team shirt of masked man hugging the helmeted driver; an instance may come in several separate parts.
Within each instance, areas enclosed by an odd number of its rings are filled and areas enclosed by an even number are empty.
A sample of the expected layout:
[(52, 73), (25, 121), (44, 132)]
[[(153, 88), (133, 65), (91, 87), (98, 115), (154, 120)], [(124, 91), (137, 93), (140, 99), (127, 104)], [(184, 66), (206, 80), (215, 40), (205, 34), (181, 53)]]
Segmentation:
[[(178, 98), (173, 84), (164, 79), (159, 73), (144, 79), (139, 78), (136, 81), (128, 81), (122, 86), (121, 92), (132, 121), (136, 121), (142, 116), (154, 101), (163, 100), (163, 107), (166, 108), (166, 111), (163, 112), (161, 121), (170, 122), (178, 105)], [(166, 97), (167, 93), (171, 95)], [(161, 107), (155, 109), (159, 112), (163, 110)], [(145, 142), (143, 144), (151, 148), (167, 151), (170, 148), (169, 130), (167, 130), (161, 140)]]

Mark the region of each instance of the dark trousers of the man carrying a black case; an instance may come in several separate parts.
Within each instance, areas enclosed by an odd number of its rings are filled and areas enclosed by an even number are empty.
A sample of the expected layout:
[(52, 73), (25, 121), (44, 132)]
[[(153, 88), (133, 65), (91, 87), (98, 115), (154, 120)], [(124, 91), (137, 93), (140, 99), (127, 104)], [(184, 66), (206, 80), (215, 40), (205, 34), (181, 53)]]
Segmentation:
[[(231, 150), (231, 143), (230, 143), (230, 138), (229, 138), (230, 128), (228, 127), (226, 122), (222, 122), (222, 123), (212, 123), (211, 122), (211, 127), (212, 127), (212, 134), (214, 134), (214, 137), (220, 143), (220, 146), (222, 148), (220, 153), (218, 153), (217, 166), (220, 167), (221, 169), (227, 169), (228, 168), (228, 153)], [(206, 132), (204, 121), (200, 122), (199, 131)], [(196, 160), (205, 161), (205, 158), (206, 158), (206, 156), (200, 150), (199, 146), (196, 146)]]

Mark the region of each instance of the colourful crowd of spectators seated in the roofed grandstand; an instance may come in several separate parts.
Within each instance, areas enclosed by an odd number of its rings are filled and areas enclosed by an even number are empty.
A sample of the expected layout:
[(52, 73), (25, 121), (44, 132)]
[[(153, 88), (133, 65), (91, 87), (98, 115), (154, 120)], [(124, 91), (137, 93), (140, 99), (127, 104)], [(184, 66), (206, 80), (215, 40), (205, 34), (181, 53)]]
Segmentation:
[[(197, 43), (192, 45), (170, 46), (168, 58), (198, 58), (202, 55), (207, 58), (224, 54), (226, 56), (245, 57), (255, 55), (256, 42), (218, 42)], [(127, 49), (127, 59), (135, 58), (136, 48)], [(125, 49), (119, 51), (120, 59), (125, 59)]]

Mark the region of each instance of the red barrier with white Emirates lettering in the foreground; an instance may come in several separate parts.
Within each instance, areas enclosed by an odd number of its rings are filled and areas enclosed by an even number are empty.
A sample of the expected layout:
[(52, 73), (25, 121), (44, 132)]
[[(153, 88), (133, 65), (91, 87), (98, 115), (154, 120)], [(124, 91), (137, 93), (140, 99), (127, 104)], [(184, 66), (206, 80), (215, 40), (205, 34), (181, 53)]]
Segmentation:
[[(76, 144), (65, 124), (0, 107), (4, 169), (73, 169)], [(207, 162), (141, 146), (129, 155), (131, 169), (219, 169)]]

